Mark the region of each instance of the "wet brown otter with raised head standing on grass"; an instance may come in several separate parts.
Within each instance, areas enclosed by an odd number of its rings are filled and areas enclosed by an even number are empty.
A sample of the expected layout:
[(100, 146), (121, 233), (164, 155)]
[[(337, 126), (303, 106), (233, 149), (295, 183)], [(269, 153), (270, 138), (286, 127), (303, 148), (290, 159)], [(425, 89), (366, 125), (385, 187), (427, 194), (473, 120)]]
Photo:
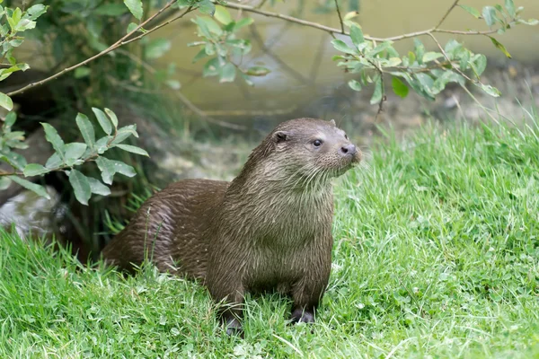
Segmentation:
[(282, 122), (231, 182), (181, 180), (148, 198), (102, 256), (199, 280), (227, 334), (243, 337), (245, 292), (287, 293), (291, 322), (313, 322), (331, 270), (331, 179), (360, 161), (334, 120)]

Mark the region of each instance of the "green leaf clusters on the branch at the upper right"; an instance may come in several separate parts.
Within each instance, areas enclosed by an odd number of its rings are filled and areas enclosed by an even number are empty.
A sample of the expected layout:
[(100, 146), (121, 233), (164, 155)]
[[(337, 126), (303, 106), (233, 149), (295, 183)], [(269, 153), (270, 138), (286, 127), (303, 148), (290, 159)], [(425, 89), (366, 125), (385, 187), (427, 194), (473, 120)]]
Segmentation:
[[(461, 5), (467, 12), (477, 19), (484, 19), (490, 28), (498, 27), (499, 34), (504, 33), (518, 24), (536, 25), (538, 21), (522, 19), (520, 13), (523, 8), (515, 8), (513, 0), (505, 2), (505, 8), (501, 5), (485, 6), (482, 15), (473, 7)], [(444, 91), (447, 83), (459, 83), (464, 86), (466, 80), (479, 86), (482, 91), (491, 96), (498, 97), (499, 90), (481, 82), (481, 75), (487, 66), (487, 58), (482, 54), (474, 54), (463, 43), (450, 39), (444, 48), (439, 45), (434, 34), (440, 31), (438, 27), (428, 31), (429, 35), (437, 44), (439, 51), (426, 51), (419, 38), (414, 39), (414, 49), (407, 55), (401, 56), (395, 48), (393, 41), (385, 40), (377, 43), (375, 40), (366, 39), (358, 23), (351, 21), (356, 13), (349, 13), (344, 17), (344, 24), (349, 26), (349, 35), (352, 44), (349, 45), (340, 39), (333, 39), (333, 47), (344, 55), (333, 57), (340, 60), (338, 66), (352, 74), (358, 74), (358, 80), (349, 81), (349, 87), (361, 91), (362, 87), (373, 84), (371, 103), (384, 101), (385, 85), (384, 74), (390, 74), (393, 78), (393, 91), (406, 97), (409, 90), (406, 84), (414, 92), (421, 96), (434, 100), (439, 92)], [(457, 32), (457, 31), (455, 31)], [(468, 31), (469, 34), (479, 33)], [(508, 50), (490, 35), (483, 33), (491, 42), (499, 48), (507, 57)]]

